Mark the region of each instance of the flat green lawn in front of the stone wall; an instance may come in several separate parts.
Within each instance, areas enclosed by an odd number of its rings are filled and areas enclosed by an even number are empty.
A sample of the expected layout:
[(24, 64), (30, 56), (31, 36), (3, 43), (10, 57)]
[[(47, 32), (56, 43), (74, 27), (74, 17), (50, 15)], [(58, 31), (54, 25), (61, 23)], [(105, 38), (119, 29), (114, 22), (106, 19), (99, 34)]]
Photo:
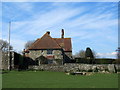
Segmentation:
[(66, 75), (49, 71), (10, 71), (2, 74), (3, 88), (118, 88), (118, 74)]

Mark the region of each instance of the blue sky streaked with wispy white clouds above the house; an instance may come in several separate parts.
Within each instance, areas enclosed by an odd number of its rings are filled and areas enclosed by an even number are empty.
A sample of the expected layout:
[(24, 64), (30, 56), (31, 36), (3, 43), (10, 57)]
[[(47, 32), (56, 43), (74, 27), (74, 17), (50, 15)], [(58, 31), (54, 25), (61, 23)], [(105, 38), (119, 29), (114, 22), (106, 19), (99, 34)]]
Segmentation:
[(27, 41), (50, 31), (53, 38), (72, 38), (73, 54), (90, 47), (100, 58), (116, 58), (117, 2), (2, 2), (2, 39), (20, 52)]

